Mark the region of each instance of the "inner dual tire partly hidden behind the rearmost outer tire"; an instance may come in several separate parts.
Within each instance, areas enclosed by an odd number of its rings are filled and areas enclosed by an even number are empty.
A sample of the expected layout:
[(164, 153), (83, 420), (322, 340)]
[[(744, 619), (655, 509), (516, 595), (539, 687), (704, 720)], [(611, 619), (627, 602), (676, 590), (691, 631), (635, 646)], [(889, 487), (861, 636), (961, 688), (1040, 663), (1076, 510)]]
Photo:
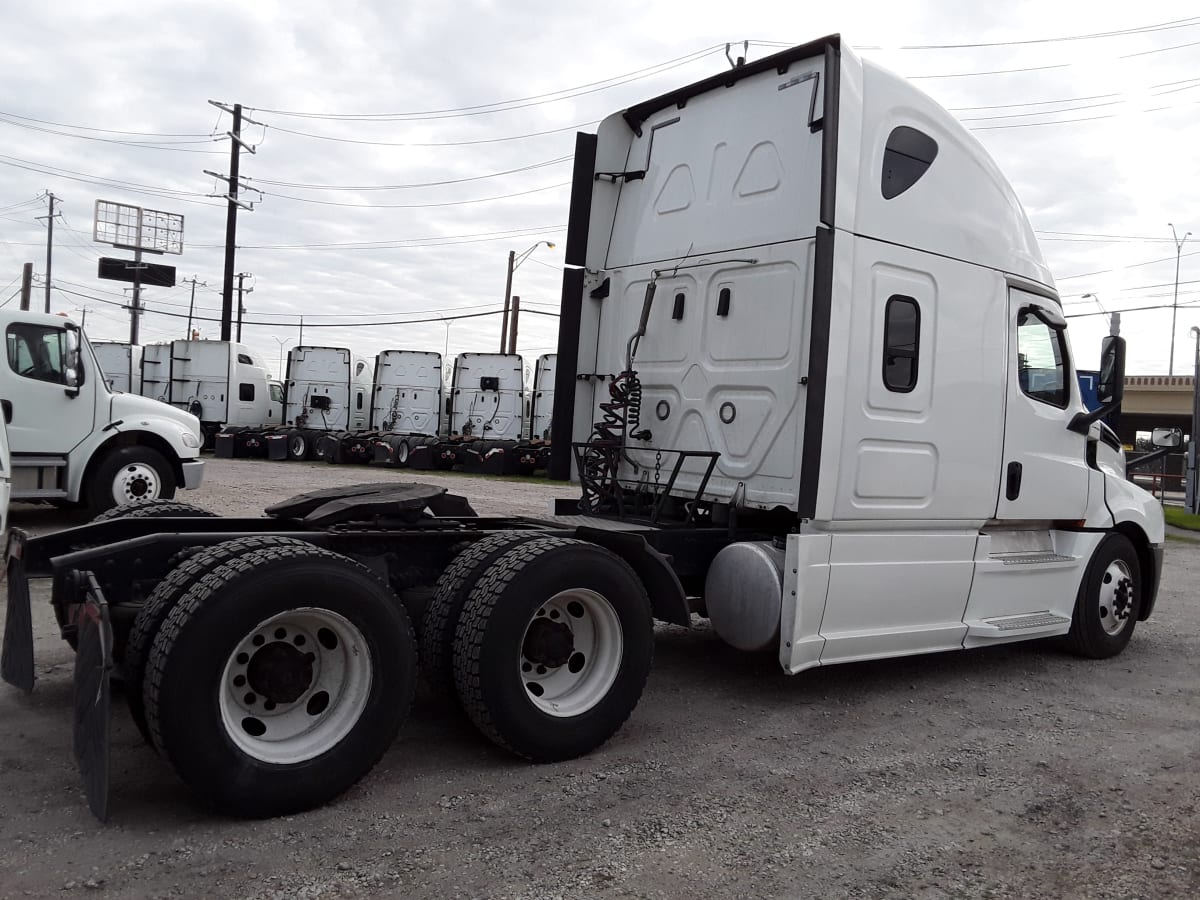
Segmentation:
[[(184, 505), (184, 504), (178, 504)], [(211, 515), (211, 514), (206, 514)], [(155, 635), (167, 620), (167, 616), (175, 608), (175, 604), (182, 599), (200, 578), (212, 572), (217, 566), (224, 565), (230, 559), (235, 559), (244, 553), (254, 550), (264, 550), (281, 546), (311, 547), (311, 544), (296, 538), (278, 538), (274, 535), (262, 535), (251, 538), (236, 538), (232, 541), (216, 544), (205, 547), (194, 556), (187, 557), (167, 576), (158, 582), (154, 593), (138, 610), (133, 617), (133, 626), (125, 643), (125, 659), (121, 667), (125, 676), (125, 698), (130, 706), (130, 715), (133, 724), (138, 726), (142, 737), (150, 746), (155, 746), (150, 737), (150, 726), (146, 725), (145, 701), (142, 691), (145, 682), (146, 659), (150, 655), (150, 647)], [(157, 748), (155, 748), (157, 749)]]

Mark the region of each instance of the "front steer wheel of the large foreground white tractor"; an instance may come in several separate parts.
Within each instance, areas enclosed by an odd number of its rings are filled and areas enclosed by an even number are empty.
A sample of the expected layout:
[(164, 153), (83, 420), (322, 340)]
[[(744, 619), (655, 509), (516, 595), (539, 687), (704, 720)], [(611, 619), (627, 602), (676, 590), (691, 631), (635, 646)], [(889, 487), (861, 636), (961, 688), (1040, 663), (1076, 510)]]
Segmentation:
[[(1127, 581), (1122, 587), (1122, 582)], [(1075, 595), (1067, 649), (1088, 659), (1116, 656), (1133, 637), (1141, 611), (1141, 565), (1123, 534), (1109, 534), (1097, 545)], [(1120, 618), (1111, 611), (1120, 605)], [(1111, 630), (1105, 628), (1105, 623)]]

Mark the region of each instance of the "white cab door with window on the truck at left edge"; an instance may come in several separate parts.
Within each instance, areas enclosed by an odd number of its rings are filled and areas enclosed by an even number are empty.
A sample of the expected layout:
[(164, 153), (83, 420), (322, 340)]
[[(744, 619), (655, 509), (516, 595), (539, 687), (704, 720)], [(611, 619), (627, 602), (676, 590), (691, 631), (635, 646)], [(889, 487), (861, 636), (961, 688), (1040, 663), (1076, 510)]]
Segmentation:
[(8, 446), (14, 454), (67, 454), (92, 432), (95, 382), (78, 330), (13, 322), (5, 334), (2, 392), (12, 403)]

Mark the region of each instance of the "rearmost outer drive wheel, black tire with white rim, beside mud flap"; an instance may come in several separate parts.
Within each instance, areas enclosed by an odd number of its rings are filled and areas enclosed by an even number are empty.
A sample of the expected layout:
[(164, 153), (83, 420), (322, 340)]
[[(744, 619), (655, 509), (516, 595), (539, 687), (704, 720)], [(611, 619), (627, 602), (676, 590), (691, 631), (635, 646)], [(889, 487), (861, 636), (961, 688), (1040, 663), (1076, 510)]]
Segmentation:
[(379, 761), (415, 683), (412, 624), (386, 584), (341, 554), (275, 546), (218, 565), (175, 604), (150, 648), (146, 722), (208, 805), (288, 815)]

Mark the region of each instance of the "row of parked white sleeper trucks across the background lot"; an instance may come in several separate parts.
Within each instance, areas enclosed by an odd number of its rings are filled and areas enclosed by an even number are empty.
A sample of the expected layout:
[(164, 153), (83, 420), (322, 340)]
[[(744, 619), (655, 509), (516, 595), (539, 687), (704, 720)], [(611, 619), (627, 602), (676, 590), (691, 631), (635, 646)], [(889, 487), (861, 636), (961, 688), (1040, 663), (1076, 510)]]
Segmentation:
[(239, 343), (94, 347), (113, 390), (196, 415), (222, 456), (509, 474), (547, 460), (557, 354), (538, 358), (526, 391), (517, 354), (461, 354), (445, 385), (442, 354), (424, 350), (383, 350), (371, 365), (346, 348), (300, 346), (276, 382)]

